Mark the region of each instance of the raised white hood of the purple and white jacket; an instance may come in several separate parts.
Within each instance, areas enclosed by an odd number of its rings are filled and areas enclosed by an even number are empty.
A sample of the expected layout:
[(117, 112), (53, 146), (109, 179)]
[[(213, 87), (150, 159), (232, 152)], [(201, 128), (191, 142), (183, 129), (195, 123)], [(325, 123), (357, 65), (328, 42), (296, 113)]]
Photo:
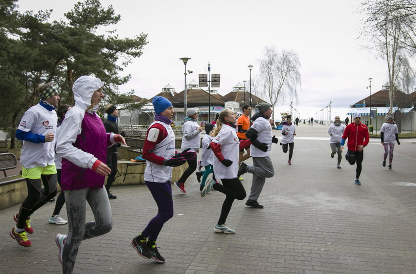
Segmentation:
[[(75, 104), (87, 109), (91, 105), (91, 97), (94, 91), (102, 88), (104, 83), (95, 77), (84, 75), (78, 78), (72, 86), (74, 93)], [(94, 106), (93, 111), (96, 112), (98, 105)]]

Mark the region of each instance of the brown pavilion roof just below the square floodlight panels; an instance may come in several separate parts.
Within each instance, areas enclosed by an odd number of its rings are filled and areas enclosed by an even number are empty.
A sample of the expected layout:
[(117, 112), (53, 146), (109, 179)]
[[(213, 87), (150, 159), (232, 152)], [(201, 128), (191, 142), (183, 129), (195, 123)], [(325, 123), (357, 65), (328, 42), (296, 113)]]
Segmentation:
[[(208, 92), (202, 89), (187, 89), (186, 90), (186, 105), (187, 107), (197, 107), (197, 106), (208, 106)], [(174, 107), (183, 107), (184, 106), (184, 91), (176, 94), (172, 99), (169, 99)], [(210, 96), (211, 106), (224, 106), (224, 101), (217, 98), (211, 93)]]

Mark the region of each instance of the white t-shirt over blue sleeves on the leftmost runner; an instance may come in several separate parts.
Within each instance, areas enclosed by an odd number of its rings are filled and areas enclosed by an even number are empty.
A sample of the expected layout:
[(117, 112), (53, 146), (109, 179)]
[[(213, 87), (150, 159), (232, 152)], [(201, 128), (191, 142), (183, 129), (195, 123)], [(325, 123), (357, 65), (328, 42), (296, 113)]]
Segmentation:
[[(18, 130), (46, 136), (55, 134), (58, 117), (54, 110), (47, 110), (40, 104), (34, 105), (23, 114)], [(23, 141), (20, 164), (24, 168), (46, 167), (54, 165), (55, 139), (52, 142), (33, 143)]]

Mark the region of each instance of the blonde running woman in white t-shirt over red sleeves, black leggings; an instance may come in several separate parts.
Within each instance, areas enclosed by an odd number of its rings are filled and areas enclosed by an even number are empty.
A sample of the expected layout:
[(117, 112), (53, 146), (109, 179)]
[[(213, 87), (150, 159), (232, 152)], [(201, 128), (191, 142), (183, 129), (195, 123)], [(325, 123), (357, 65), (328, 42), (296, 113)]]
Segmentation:
[(246, 190), (238, 179), (238, 152), (241, 148), (251, 144), (250, 139), (239, 141), (235, 132), (236, 123), (233, 111), (225, 108), (220, 112), (219, 124), (215, 129), (216, 137), (210, 143), (214, 153), (213, 167), (217, 179), (222, 184), (209, 181), (201, 192), (205, 196), (212, 189), (225, 194), (225, 200), (221, 207), (221, 214), (218, 223), (214, 227), (217, 233), (235, 233), (234, 229), (226, 226), (225, 221), (231, 210), (235, 199), (243, 200), (246, 197)]

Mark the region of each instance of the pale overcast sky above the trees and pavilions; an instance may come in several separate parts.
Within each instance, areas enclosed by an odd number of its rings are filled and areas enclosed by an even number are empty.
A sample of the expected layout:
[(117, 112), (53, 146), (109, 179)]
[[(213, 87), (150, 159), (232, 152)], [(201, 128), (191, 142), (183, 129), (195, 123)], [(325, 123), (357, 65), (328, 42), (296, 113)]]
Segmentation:
[[(65, 19), (76, 0), (19, 0), (20, 11), (52, 9), (51, 21)], [(301, 62), (298, 100), (285, 97), (275, 112), (291, 111), (290, 101), (301, 119), (335, 115), (345, 119), (351, 104), (375, 93), (387, 82), (387, 65), (367, 49), (359, 37), (363, 15), (359, 0), (101, 0), (121, 15), (116, 29), (120, 38), (148, 34), (143, 55), (121, 73), (132, 79), (120, 91), (134, 90), (150, 98), (170, 84), (184, 90), (184, 65), (190, 57), (187, 82), (198, 74), (220, 74), (225, 95), (239, 82), (259, 74), (259, 59), (266, 46), (293, 50)], [(247, 90), (249, 88), (247, 87)], [(316, 112), (320, 111), (320, 114)], [(294, 110), (292, 111), (294, 113)]]

